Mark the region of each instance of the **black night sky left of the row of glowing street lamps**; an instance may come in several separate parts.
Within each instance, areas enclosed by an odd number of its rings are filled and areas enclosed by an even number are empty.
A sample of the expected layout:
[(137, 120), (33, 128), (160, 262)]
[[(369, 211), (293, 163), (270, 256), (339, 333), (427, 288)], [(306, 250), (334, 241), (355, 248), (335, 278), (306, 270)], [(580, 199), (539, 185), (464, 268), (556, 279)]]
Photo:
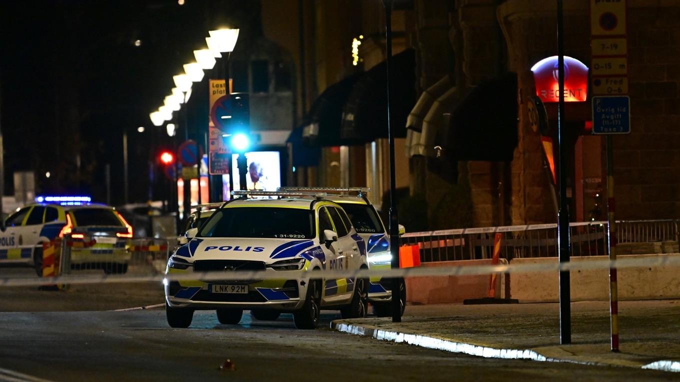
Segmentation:
[[(104, 201), (109, 163), (112, 204), (122, 203), (122, 135), (127, 131), (131, 200), (146, 201), (148, 162), (171, 147), (165, 126), (152, 126), (148, 114), (163, 104), (174, 86), (172, 75), (193, 60), (192, 50), (205, 47), (207, 32), (257, 17), (257, 3), (1, 1), (5, 194), (14, 192), (14, 171), (32, 169), (39, 193), (79, 192)], [(192, 95), (190, 106), (207, 98), (204, 86), (194, 86), (194, 94), (201, 94)], [(203, 106), (194, 106), (190, 133), (203, 123)], [(137, 133), (139, 126), (145, 133)]]

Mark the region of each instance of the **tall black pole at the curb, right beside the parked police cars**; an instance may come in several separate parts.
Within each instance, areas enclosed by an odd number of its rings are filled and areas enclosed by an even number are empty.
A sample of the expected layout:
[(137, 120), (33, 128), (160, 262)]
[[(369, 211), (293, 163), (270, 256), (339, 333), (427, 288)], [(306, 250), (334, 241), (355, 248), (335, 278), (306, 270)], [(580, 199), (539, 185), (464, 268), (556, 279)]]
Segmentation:
[[(383, 0), (385, 6), (385, 41), (387, 54), (387, 136), (390, 142), (390, 253), (392, 254), (392, 269), (399, 268), (399, 228), (396, 213), (396, 196), (394, 190), (394, 135), (390, 122), (390, 69), (392, 69), (392, 0)], [(401, 322), (401, 279), (392, 279), (392, 322)]]

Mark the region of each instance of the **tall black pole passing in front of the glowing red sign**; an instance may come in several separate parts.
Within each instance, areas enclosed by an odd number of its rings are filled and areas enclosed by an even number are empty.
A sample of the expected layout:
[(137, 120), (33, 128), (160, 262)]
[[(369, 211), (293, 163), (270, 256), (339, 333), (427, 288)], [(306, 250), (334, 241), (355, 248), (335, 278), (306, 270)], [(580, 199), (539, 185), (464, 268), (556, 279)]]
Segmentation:
[[(562, 0), (557, 1), (557, 49), (558, 81), (560, 82), (560, 101), (557, 108), (558, 171), (560, 173), (560, 211), (558, 211), (557, 232), (560, 264), (569, 262), (569, 210), (566, 203), (566, 158), (562, 118), (564, 117), (564, 13)], [(571, 343), (571, 290), (569, 271), (560, 271), (560, 343)]]

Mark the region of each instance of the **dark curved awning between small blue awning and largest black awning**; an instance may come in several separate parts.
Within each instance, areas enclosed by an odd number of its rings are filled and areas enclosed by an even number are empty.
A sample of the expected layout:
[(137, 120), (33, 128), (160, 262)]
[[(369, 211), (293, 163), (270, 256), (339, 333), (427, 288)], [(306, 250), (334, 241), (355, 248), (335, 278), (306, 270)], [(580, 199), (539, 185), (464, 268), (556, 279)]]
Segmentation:
[(340, 137), (342, 109), (354, 84), (363, 74), (351, 75), (328, 86), (317, 97), (303, 120), (302, 139), (306, 145), (337, 146), (349, 143)]

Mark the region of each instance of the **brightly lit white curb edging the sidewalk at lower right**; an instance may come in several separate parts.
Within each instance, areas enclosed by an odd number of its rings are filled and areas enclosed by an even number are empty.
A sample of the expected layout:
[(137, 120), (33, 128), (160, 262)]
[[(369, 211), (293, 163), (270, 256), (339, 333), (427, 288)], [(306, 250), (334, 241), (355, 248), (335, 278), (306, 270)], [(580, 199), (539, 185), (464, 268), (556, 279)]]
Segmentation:
[(650, 364), (614, 364), (609, 362), (570, 360), (567, 358), (546, 357), (532, 349), (500, 349), (488, 345), (465, 343), (439, 336), (429, 336), (423, 334), (409, 334), (392, 330), (383, 330), (375, 326), (352, 324), (347, 320), (334, 320), (330, 322), (330, 328), (338, 332), (368, 336), (382, 341), (392, 341), (394, 343), (406, 343), (408, 345), (450, 351), (452, 353), (463, 353), (484, 358), (500, 358), (503, 360), (532, 360), (538, 362), (565, 362), (571, 364), (581, 364), (588, 366), (613, 366), (613, 367), (632, 367), (648, 370), (659, 370), (667, 372), (680, 372), (680, 362), (670, 360), (660, 360)]

